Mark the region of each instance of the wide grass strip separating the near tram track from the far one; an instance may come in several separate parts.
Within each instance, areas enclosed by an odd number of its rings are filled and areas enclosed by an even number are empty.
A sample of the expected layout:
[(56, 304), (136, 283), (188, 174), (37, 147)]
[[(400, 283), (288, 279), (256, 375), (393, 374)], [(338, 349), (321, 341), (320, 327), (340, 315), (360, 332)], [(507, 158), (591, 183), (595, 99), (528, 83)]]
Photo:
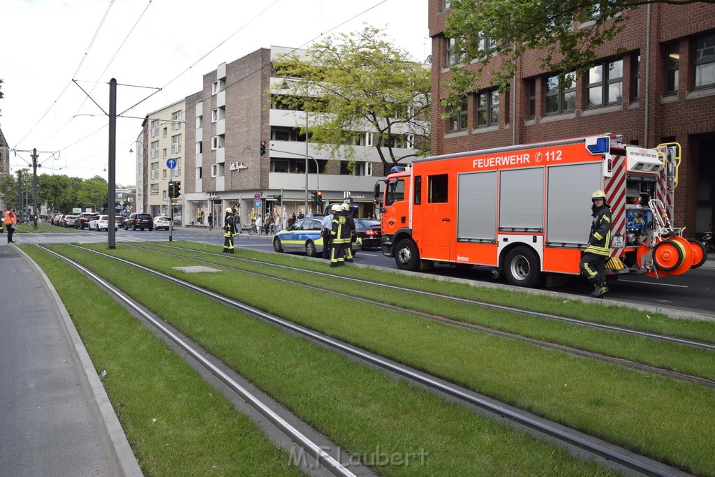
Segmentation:
[[(170, 273), (176, 273), (175, 266), (195, 265), (134, 249), (111, 252)], [(98, 262), (94, 259), (93, 266)], [(241, 272), (182, 278), (638, 453), (696, 473), (715, 473), (712, 390), (356, 305), (347, 297), (306, 294), (302, 287)]]

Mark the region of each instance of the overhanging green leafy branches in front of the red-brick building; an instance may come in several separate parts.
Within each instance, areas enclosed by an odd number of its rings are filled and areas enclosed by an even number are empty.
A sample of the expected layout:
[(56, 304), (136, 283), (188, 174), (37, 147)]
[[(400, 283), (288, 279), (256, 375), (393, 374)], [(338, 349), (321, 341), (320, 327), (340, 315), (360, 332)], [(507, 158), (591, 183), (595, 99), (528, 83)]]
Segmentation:
[[(491, 84), (504, 92), (526, 51), (538, 51), (541, 69), (560, 74), (584, 74), (596, 59), (596, 49), (626, 25), (628, 12), (645, 4), (684, 5), (715, 0), (450, 0), (445, 36), (455, 39), (448, 109), (488, 72)], [(492, 60), (499, 57), (498, 62)], [(464, 64), (474, 62), (474, 68)]]

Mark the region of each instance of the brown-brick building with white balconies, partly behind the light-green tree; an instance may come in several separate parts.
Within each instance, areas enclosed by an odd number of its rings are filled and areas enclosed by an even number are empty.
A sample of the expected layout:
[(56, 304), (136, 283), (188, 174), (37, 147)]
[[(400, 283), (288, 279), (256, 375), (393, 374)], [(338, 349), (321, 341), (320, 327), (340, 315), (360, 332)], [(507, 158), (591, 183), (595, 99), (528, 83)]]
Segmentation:
[[(373, 135), (355, 145), (350, 170), (347, 159), (306, 141), (298, 128), (307, 113), (284, 109), (276, 91), (285, 79), (272, 76), (272, 61), (290, 51), (274, 46), (220, 64), (204, 75), (201, 91), (186, 97), (186, 144), (194, 150), (185, 158), (184, 225), (205, 225), (209, 213), (221, 220), (226, 207), (238, 211), (243, 227), (268, 211), (285, 224), (290, 214), (322, 212), (345, 197), (358, 204), (360, 216), (374, 212), (375, 181), (385, 170)], [(395, 146), (399, 157), (414, 152), (409, 141)], [(322, 210), (312, 204), (316, 190), (322, 191)]]

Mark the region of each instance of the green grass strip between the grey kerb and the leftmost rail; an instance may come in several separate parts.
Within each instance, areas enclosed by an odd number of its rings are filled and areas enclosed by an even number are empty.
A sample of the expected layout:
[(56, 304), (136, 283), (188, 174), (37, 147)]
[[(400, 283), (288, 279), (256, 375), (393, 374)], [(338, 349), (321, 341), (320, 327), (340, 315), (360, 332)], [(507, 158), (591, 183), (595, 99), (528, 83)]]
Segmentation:
[(94, 282), (36, 247), (24, 250), (59, 293), (97, 373), (107, 370), (102, 383), (147, 476), (302, 475), (286, 452)]

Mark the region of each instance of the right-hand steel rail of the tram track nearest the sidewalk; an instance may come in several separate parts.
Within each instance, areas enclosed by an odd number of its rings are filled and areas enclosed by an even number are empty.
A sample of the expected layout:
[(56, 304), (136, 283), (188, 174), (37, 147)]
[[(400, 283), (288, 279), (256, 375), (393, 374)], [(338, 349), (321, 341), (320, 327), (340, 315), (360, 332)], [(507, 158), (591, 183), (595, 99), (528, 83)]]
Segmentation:
[[(75, 247), (77, 247), (75, 245)], [(153, 270), (149, 267), (144, 267), (143, 265), (137, 265), (135, 263), (129, 262), (119, 257), (114, 257), (103, 252), (98, 252), (95, 250), (87, 249), (85, 247), (78, 247), (83, 250), (89, 250), (97, 255), (107, 257), (109, 259), (115, 260), (117, 262), (122, 262), (126, 265), (131, 265), (144, 272), (151, 273), (158, 277), (162, 277), (164, 280), (169, 282), (174, 282), (177, 285), (186, 287), (194, 292), (199, 292), (203, 295), (211, 297), (220, 303), (229, 305), (232, 308), (241, 310), (244, 313), (256, 316), (261, 320), (265, 320), (269, 323), (277, 325), (279, 328), (288, 330), (291, 333), (301, 335), (315, 343), (322, 345), (323, 347), (330, 348), (337, 351), (338, 353), (350, 355), (352, 358), (358, 359), (363, 363), (366, 363), (374, 368), (379, 368), (386, 373), (393, 375), (398, 375), (400, 378), (408, 380), (411, 383), (429, 388), (434, 392), (450, 397), (452, 400), (457, 400), (459, 403), (468, 406), (469, 408), (478, 408), (485, 411), (488, 415), (498, 416), (504, 418), (511, 423), (516, 424), (520, 428), (526, 428), (531, 430), (536, 435), (548, 436), (550, 440), (557, 441), (561, 445), (570, 446), (572, 448), (577, 448), (580, 452), (585, 451), (592, 456), (597, 456), (599, 458), (605, 458), (607, 461), (621, 466), (621, 470), (629, 469), (629, 471), (635, 471), (636, 473), (641, 473), (643, 475), (654, 475), (654, 476), (671, 476), (671, 475), (684, 475), (681, 471), (676, 468), (671, 468), (658, 461), (653, 461), (650, 458), (644, 456), (638, 456), (632, 451), (628, 451), (618, 446), (614, 446), (611, 443), (601, 441), (597, 438), (588, 436), (587, 434), (581, 433), (580, 431), (573, 430), (562, 426), (561, 424), (553, 423), (544, 418), (538, 417), (536, 415), (531, 415), (518, 408), (513, 408), (510, 405), (500, 403), (488, 398), (484, 395), (480, 395), (473, 390), (466, 388), (461, 388), (453, 383), (445, 382), (440, 378), (435, 378), (433, 375), (428, 373), (423, 373), (420, 370), (415, 370), (406, 365), (400, 363), (395, 363), (387, 358), (383, 358), (380, 355), (375, 355), (361, 348), (349, 345), (341, 340), (331, 338), (330, 336), (323, 335), (322, 333), (317, 333), (315, 330), (310, 328), (305, 328), (302, 325), (297, 325), (292, 323), (290, 320), (285, 320), (276, 315), (271, 315), (260, 309), (254, 308), (245, 303), (240, 303), (237, 300), (232, 300), (229, 297), (220, 295), (219, 293), (212, 292), (211, 290), (205, 290), (202, 287), (194, 285), (190, 282), (180, 280), (171, 275), (164, 274), (158, 270)], [(55, 252), (52, 252), (55, 253)], [(61, 255), (59, 255), (61, 257)], [(177, 257), (182, 257), (177, 255)], [(187, 257), (182, 257), (186, 259)], [(192, 259), (190, 259), (192, 260)], [(68, 260), (71, 262), (71, 260)], [(73, 264), (74, 265), (74, 264)], [(217, 264), (212, 263), (216, 266)], [(84, 268), (84, 267), (82, 267)], [(86, 269), (85, 269), (86, 270)], [(89, 270), (87, 270), (89, 272)], [(241, 270), (243, 271), (243, 270)], [(111, 291), (111, 285), (107, 285), (107, 289)], [(324, 290), (323, 290), (324, 291)], [(182, 347), (183, 348), (183, 347)], [(188, 352), (188, 351), (187, 351)], [(336, 474), (342, 475), (342, 474)]]

